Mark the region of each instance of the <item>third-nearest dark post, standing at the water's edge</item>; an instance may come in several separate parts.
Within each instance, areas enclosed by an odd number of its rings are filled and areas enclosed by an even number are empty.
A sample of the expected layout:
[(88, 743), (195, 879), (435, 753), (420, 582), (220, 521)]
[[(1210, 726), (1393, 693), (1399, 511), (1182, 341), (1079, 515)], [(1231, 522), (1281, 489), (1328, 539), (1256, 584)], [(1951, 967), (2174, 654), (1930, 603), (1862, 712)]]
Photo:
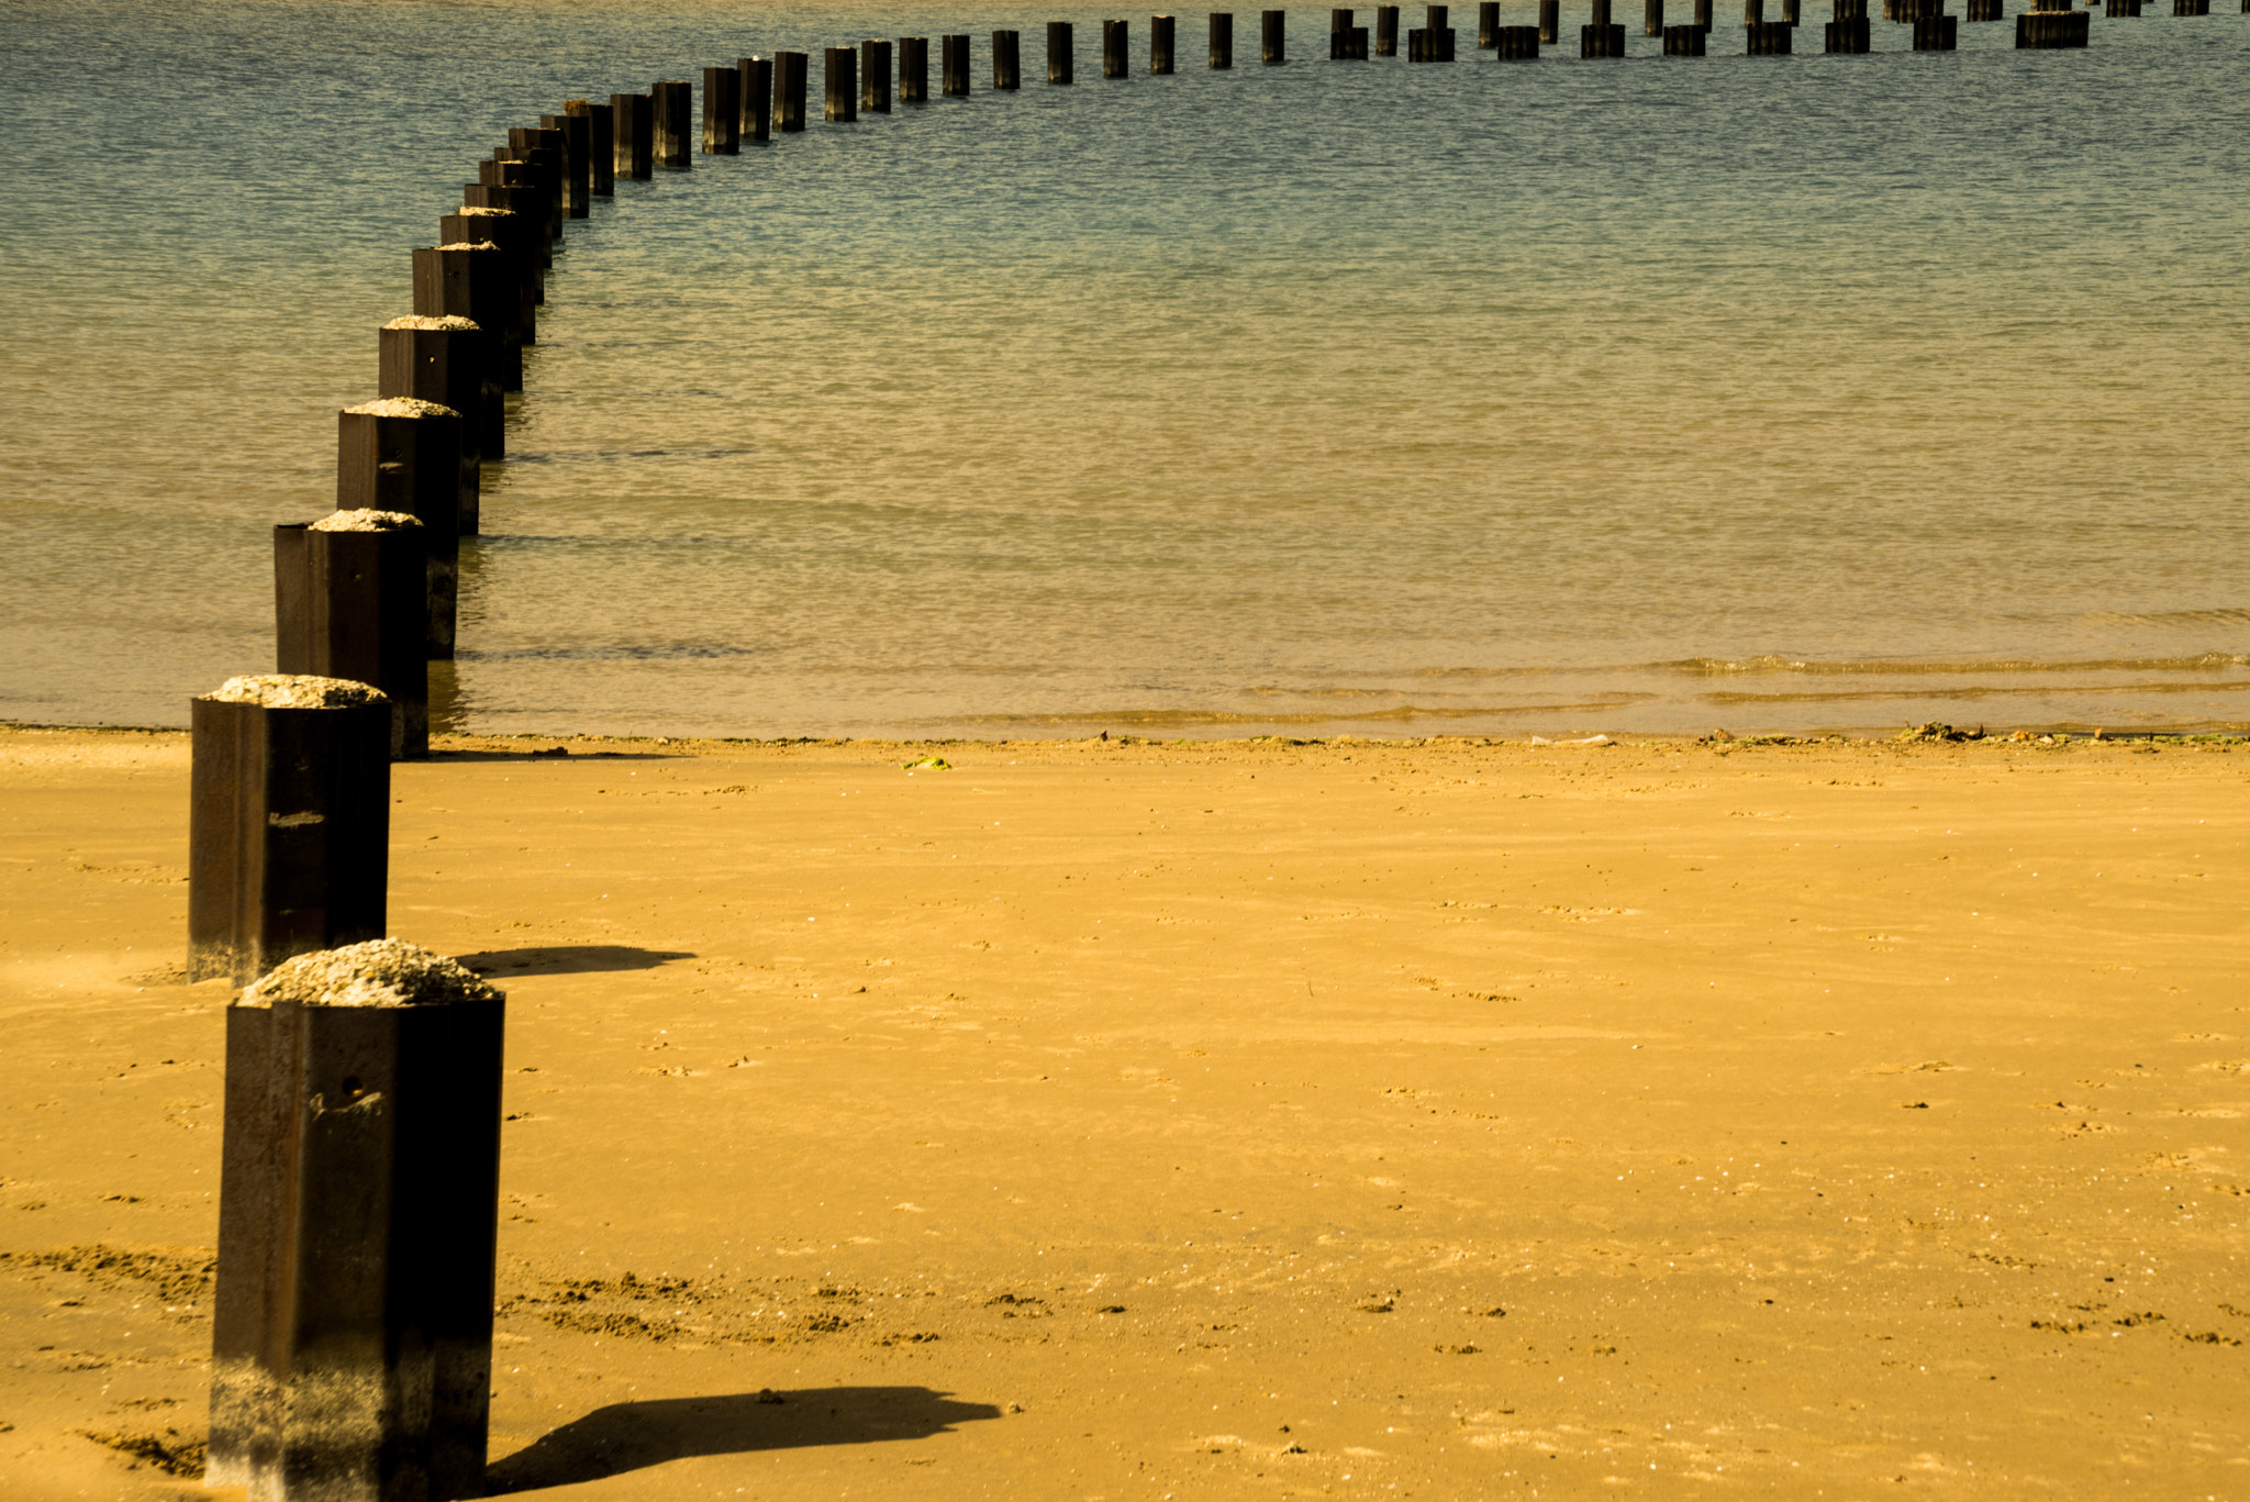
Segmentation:
[(274, 527), (274, 671), (382, 689), (392, 761), (430, 757), (430, 561), (403, 511), (331, 511)]

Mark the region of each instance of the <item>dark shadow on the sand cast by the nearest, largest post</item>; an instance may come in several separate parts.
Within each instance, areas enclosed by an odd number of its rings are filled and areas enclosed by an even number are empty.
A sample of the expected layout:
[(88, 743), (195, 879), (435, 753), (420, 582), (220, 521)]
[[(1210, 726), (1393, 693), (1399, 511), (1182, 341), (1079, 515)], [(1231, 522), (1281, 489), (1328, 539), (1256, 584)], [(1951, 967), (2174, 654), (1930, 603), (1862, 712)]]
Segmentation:
[(484, 1482), (497, 1497), (598, 1482), (693, 1455), (927, 1439), (972, 1419), (999, 1419), (999, 1407), (958, 1403), (929, 1387), (801, 1387), (610, 1403), (495, 1461)]

